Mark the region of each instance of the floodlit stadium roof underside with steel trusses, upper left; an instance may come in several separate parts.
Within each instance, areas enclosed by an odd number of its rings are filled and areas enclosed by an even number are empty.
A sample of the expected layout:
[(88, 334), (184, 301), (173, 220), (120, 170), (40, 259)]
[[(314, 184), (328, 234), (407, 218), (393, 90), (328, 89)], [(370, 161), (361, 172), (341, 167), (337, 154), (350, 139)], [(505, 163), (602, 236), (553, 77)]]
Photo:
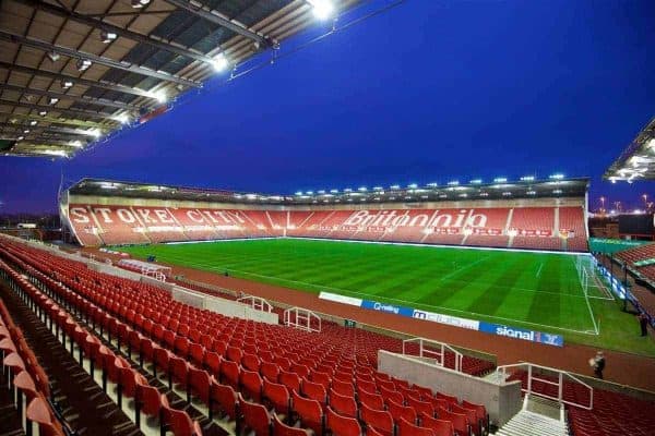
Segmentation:
[(0, 154), (70, 156), (359, 1), (0, 1)]

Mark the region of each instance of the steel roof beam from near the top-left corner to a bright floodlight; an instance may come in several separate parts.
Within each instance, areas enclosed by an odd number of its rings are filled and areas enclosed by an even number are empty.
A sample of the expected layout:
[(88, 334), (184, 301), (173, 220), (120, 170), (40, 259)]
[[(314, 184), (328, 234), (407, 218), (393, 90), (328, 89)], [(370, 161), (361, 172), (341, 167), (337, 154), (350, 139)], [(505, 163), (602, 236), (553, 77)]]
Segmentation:
[[(160, 50), (166, 50), (166, 51), (170, 51), (171, 53), (175, 53), (178, 56), (183, 56), (184, 58), (189, 58), (189, 59), (193, 59), (193, 60), (196, 60), (200, 62), (206, 62), (206, 63), (213, 62), (213, 59), (211, 57), (205, 56), (201, 52), (189, 50), (189, 49), (178, 47), (178, 46), (174, 46), (174, 45), (167, 44), (160, 39), (156, 39), (152, 36), (146, 36), (146, 35), (142, 35), (136, 32), (128, 31), (127, 28), (115, 26), (114, 24), (109, 24), (109, 23), (100, 21), (100, 20), (95, 20), (87, 15), (83, 15), (78, 12), (69, 11), (63, 8), (57, 7), (55, 4), (49, 4), (49, 3), (45, 3), (45, 2), (36, 1), (36, 0), (15, 0), (15, 1), (19, 1), (23, 4), (31, 5), (33, 8), (36, 8), (40, 11), (47, 12), (52, 15), (61, 16), (63, 19), (69, 19), (69, 20), (75, 21), (78, 23), (82, 23), (87, 26), (94, 27), (94, 28), (99, 28), (105, 32), (115, 33), (116, 35), (120, 35), (122, 37), (135, 40), (138, 43), (147, 44), (147, 45), (150, 45), (152, 47), (156, 47)], [(169, 13), (170, 12), (174, 12), (174, 11), (169, 11)]]

